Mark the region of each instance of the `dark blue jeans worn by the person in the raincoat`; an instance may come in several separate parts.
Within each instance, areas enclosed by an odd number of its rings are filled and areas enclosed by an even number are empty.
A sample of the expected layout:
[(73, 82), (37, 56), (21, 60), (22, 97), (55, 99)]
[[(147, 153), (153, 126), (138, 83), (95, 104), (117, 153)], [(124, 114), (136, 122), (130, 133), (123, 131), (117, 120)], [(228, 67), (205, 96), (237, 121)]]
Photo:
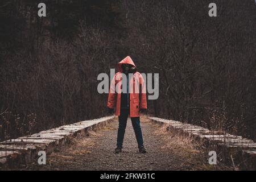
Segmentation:
[[(127, 123), (127, 118), (129, 115), (129, 109), (121, 109), (120, 115), (118, 117), (119, 127), (117, 131), (117, 146), (122, 147), (123, 145), (123, 137), (125, 136), (125, 128)], [(142, 137), (142, 131), (141, 131), (141, 125), (139, 121), (139, 117), (132, 117), (131, 123), (133, 125), (133, 129), (135, 132), (135, 136), (137, 139), (138, 147), (143, 146), (143, 137)]]

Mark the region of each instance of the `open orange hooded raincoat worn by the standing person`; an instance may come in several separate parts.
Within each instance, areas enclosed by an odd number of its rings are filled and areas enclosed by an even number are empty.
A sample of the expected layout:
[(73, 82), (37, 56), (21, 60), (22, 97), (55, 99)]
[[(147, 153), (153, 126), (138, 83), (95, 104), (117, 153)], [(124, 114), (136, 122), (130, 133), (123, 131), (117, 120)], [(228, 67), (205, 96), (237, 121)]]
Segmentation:
[[(130, 56), (125, 57), (118, 63), (118, 72), (110, 84), (108, 107), (115, 109), (115, 115), (120, 115), (121, 105), (121, 89), (122, 89), (122, 64), (131, 64), (135, 68), (135, 64)], [(130, 88), (130, 117), (139, 117), (139, 109), (147, 109), (146, 85), (144, 79), (139, 72), (133, 73), (129, 82)]]

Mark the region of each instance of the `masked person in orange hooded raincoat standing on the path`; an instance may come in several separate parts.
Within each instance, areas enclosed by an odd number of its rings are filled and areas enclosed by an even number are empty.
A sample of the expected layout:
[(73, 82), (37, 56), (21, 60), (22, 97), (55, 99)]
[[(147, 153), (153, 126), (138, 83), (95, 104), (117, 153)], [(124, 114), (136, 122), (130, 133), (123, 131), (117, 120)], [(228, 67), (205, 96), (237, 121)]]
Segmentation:
[(135, 132), (139, 152), (146, 153), (143, 146), (142, 130), (140, 126), (139, 114), (147, 109), (146, 86), (141, 73), (130, 56), (125, 57), (118, 63), (118, 73), (115, 74), (108, 97), (108, 108), (110, 113), (118, 115), (117, 148), (115, 154), (122, 151), (123, 137), (128, 115)]

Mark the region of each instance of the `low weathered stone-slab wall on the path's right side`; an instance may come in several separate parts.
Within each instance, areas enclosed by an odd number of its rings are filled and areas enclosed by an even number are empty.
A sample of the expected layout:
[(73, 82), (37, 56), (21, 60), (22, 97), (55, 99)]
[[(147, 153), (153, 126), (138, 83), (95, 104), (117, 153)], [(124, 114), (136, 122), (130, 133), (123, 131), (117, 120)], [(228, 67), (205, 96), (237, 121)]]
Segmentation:
[[(245, 169), (256, 170), (256, 143), (247, 138), (236, 136), (220, 131), (210, 131), (201, 126), (182, 123), (163, 118), (149, 117), (152, 122), (166, 126), (167, 130), (179, 132), (203, 141), (208, 146), (217, 145), (217, 149), (225, 151), (225, 155), (239, 160)], [(223, 153), (223, 152), (222, 152)]]

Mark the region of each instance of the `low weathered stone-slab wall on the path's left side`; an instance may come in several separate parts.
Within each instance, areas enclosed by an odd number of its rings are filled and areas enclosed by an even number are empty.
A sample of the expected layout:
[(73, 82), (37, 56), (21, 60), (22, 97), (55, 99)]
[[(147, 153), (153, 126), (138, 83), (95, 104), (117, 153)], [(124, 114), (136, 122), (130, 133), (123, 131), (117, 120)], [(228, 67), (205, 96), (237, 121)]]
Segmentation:
[(83, 137), (88, 131), (105, 126), (113, 118), (114, 115), (80, 121), (71, 125), (40, 131), (37, 134), (0, 142), (0, 168), (1, 166), (16, 167), (20, 164), (30, 163), (38, 157), (39, 151), (46, 151), (49, 154), (54, 148), (65, 144), (69, 137)]

